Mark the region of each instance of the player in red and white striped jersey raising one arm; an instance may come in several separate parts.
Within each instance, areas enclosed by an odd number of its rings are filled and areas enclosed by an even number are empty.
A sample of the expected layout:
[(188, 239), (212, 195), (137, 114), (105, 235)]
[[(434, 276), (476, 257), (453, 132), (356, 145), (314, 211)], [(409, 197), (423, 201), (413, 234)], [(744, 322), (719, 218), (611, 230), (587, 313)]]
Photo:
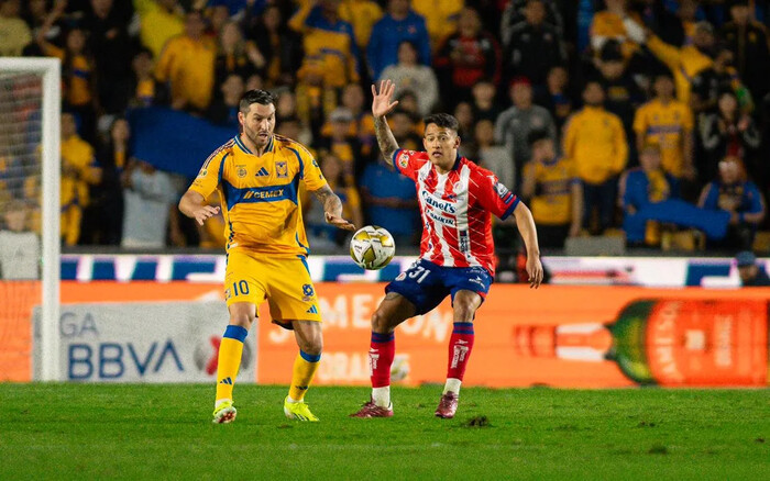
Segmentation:
[(449, 343), (447, 383), (436, 415), (451, 418), (458, 409), (460, 385), (473, 349), (473, 321), (494, 277), (492, 215), (505, 221), (513, 214), (527, 246), (530, 286), (542, 281), (535, 221), (529, 209), (490, 170), (458, 154), (458, 121), (449, 114), (425, 119), (426, 152), (402, 150), (385, 121), (398, 103), (395, 85), (372, 86), (377, 142), (388, 165), (415, 181), (422, 216), (420, 258), (386, 288), (372, 315), (370, 368), (372, 399), (354, 417), (389, 417), (391, 365), (394, 329), (415, 315), (431, 311), (452, 297), (454, 329)]

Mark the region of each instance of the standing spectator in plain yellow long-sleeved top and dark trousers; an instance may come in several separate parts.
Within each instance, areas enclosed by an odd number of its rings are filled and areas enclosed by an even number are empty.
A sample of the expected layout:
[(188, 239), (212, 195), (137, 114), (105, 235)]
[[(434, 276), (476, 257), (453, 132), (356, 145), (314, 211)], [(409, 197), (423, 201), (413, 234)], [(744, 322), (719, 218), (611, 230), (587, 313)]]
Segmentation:
[(628, 144), (620, 118), (604, 110), (604, 89), (600, 82), (586, 83), (583, 101), (585, 107), (568, 121), (564, 155), (574, 161), (576, 175), (583, 182), (583, 226), (590, 227), (596, 209), (598, 231), (603, 232), (613, 222), (617, 176), (626, 167)]

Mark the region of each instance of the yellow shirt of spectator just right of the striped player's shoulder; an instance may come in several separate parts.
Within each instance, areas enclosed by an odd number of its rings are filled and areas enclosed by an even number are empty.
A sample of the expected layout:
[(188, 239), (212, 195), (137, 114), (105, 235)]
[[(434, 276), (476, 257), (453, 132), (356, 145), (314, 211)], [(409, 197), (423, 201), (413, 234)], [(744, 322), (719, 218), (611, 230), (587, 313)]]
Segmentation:
[(563, 225), (572, 221), (572, 186), (579, 182), (574, 161), (560, 158), (551, 163), (529, 161), (525, 177), (535, 177), (532, 217), (537, 224)]

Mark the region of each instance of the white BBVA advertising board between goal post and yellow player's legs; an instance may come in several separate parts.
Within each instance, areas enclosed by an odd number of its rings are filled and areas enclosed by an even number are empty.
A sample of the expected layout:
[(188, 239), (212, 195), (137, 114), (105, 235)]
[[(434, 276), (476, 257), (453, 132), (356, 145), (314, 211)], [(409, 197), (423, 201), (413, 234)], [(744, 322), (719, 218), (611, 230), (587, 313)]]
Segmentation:
[[(59, 379), (77, 382), (213, 382), (224, 302), (62, 305)], [(256, 328), (255, 328), (256, 332)], [(40, 328), (34, 379), (40, 379)], [(241, 379), (255, 379), (255, 343), (244, 345)]]

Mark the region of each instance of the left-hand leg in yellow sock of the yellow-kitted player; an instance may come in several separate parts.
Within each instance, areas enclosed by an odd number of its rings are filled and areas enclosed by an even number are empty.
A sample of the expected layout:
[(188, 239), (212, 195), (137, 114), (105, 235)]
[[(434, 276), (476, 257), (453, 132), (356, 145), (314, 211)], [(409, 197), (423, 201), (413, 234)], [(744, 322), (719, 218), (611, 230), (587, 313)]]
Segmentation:
[(229, 307), (230, 323), (224, 329), (219, 345), (217, 361), (217, 398), (213, 407), (215, 423), (231, 423), (235, 420), (232, 390), (238, 377), (243, 355), (243, 343), (249, 328), (256, 317), (256, 305), (251, 302), (235, 302)]

